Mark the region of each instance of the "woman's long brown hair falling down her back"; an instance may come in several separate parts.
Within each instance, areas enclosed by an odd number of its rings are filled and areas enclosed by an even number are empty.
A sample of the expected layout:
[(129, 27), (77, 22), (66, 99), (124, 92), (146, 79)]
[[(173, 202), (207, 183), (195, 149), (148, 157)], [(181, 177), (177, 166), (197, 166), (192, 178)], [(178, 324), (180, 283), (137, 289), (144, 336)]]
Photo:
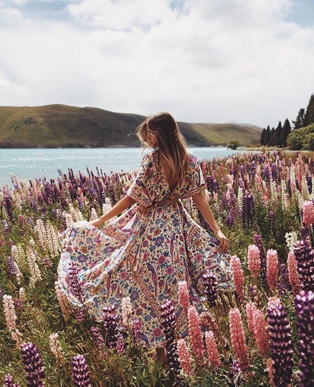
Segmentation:
[[(137, 137), (140, 139), (143, 150), (149, 148), (146, 142), (147, 129), (157, 138), (158, 164), (168, 165), (171, 176), (175, 181), (182, 181), (189, 169), (189, 154), (181, 130), (172, 115), (160, 111), (149, 115), (138, 127)], [(157, 148), (157, 149), (156, 149)]]

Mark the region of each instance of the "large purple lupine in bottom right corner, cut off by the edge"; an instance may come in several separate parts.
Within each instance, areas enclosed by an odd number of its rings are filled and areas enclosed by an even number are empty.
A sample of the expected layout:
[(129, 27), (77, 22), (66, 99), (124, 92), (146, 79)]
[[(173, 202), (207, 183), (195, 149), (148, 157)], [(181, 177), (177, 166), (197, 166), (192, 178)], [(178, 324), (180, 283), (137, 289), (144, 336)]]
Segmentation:
[(314, 386), (314, 292), (301, 290), (294, 297), (294, 305), (299, 333), (299, 386)]

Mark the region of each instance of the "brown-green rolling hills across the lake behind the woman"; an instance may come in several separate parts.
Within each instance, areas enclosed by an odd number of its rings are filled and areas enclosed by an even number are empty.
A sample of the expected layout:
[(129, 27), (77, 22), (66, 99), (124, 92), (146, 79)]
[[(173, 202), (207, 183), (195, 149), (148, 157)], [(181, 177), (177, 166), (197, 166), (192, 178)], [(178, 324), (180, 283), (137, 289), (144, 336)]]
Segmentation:
[[(139, 146), (144, 116), (62, 104), (0, 106), (0, 148)], [(178, 122), (189, 146), (259, 144), (262, 128), (249, 124)]]

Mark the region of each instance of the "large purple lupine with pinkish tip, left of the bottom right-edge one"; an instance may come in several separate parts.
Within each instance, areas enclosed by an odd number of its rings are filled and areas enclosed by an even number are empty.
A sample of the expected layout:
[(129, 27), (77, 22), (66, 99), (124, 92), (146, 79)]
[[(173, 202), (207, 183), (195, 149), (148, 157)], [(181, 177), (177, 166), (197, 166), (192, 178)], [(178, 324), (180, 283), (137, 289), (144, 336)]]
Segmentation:
[(292, 375), (293, 348), (287, 311), (279, 298), (268, 298), (267, 317), (274, 385), (287, 386)]

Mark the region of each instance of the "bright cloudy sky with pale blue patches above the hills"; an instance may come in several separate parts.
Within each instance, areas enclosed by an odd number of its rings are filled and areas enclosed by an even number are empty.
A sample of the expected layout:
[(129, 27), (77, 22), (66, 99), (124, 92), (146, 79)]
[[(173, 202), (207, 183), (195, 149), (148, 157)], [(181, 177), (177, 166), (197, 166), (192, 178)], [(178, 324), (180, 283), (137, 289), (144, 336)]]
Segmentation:
[(276, 128), (313, 68), (313, 0), (0, 0), (1, 106)]

